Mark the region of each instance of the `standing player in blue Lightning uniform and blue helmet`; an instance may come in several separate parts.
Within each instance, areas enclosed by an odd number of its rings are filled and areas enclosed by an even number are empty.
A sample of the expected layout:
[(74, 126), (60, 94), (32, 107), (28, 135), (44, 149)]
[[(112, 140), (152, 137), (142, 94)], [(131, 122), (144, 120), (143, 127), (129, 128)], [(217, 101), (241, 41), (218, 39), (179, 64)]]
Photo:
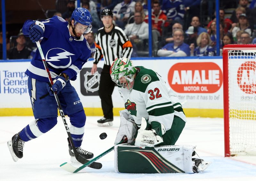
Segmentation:
[[(58, 110), (53, 91), (57, 92), (62, 109), (70, 118), (70, 134), (77, 152), (85, 159), (93, 157), (93, 153), (80, 147), (86, 116), (80, 98), (70, 84), (70, 80), (76, 80), (78, 72), (90, 57), (91, 49), (83, 33), (90, 32), (91, 23), (91, 14), (85, 8), (76, 8), (70, 22), (59, 16), (54, 16), (41, 22), (27, 20), (24, 23), (22, 31), (24, 35), (29, 36), (30, 40), (36, 42), (44, 37), (41, 47), (54, 84), (52, 87), (49, 86), (44, 64), (39, 51), (36, 50), (26, 71), (35, 120), (7, 142), (15, 162), (23, 157), (25, 142), (46, 133), (57, 124)], [(54, 139), (52, 138), (52, 140)], [(74, 156), (70, 145), (69, 154)]]

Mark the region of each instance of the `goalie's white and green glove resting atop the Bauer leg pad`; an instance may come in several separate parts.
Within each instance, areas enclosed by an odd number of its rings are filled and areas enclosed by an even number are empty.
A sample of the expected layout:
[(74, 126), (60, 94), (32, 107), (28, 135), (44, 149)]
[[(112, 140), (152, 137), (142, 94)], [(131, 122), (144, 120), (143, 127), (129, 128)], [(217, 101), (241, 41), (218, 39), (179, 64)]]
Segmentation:
[(135, 146), (140, 148), (154, 147), (163, 141), (161, 137), (165, 132), (165, 127), (157, 121), (151, 121), (151, 130), (145, 130), (147, 128), (147, 121), (145, 118), (141, 118), (141, 127), (138, 130), (138, 134), (135, 140)]

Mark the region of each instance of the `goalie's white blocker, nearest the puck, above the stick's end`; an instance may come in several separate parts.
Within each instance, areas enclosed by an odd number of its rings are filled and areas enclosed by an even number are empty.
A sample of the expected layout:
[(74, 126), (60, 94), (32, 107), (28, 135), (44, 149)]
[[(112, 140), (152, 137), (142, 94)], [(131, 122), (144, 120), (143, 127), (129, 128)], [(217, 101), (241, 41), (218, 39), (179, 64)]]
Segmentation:
[(116, 135), (115, 144), (119, 143), (122, 139), (124, 139), (124, 136), (127, 137), (129, 143), (132, 143), (134, 140), (134, 135), (137, 131), (137, 125), (132, 120), (132, 116), (126, 109), (120, 111), (119, 113), (120, 127)]

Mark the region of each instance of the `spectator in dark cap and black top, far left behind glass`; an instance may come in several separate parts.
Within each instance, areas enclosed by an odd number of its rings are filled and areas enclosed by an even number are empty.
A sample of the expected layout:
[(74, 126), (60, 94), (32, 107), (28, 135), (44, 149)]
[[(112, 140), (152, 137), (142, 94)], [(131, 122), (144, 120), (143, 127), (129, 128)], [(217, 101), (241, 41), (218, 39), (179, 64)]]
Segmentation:
[(8, 52), (8, 59), (28, 59), (31, 49), (26, 47), (26, 39), (23, 33), (19, 33), (16, 39), (17, 46), (12, 47)]

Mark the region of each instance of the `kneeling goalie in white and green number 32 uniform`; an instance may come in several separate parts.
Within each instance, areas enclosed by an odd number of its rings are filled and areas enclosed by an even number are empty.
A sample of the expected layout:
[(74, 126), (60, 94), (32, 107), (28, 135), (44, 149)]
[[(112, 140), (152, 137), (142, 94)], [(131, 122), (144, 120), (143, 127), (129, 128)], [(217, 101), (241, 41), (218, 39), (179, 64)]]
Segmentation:
[[(128, 58), (110, 68), (125, 110), (120, 111), (115, 169), (119, 173), (195, 173), (210, 162), (194, 158), (193, 146), (175, 145), (186, 123), (179, 98), (160, 75)], [(127, 137), (128, 143), (118, 144)]]

